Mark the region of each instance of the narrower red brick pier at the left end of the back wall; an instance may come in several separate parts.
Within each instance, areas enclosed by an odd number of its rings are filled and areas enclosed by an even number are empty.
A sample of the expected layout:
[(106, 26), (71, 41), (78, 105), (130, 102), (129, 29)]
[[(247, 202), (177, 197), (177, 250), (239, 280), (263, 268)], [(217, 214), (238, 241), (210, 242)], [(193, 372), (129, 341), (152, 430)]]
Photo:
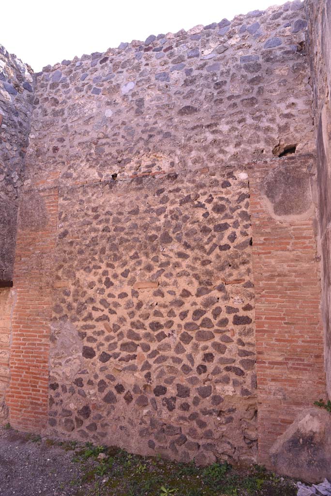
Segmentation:
[[(10, 384), (6, 395), (9, 422), (18, 429), (41, 430), (47, 421), (48, 359), (52, 265), (57, 225), (56, 187), (33, 193), (45, 209), (45, 222), (20, 222), (17, 231), (12, 316)], [(27, 196), (21, 210), (27, 208)], [(39, 226), (38, 226), (39, 223)], [(42, 225), (42, 227), (41, 227)]]

